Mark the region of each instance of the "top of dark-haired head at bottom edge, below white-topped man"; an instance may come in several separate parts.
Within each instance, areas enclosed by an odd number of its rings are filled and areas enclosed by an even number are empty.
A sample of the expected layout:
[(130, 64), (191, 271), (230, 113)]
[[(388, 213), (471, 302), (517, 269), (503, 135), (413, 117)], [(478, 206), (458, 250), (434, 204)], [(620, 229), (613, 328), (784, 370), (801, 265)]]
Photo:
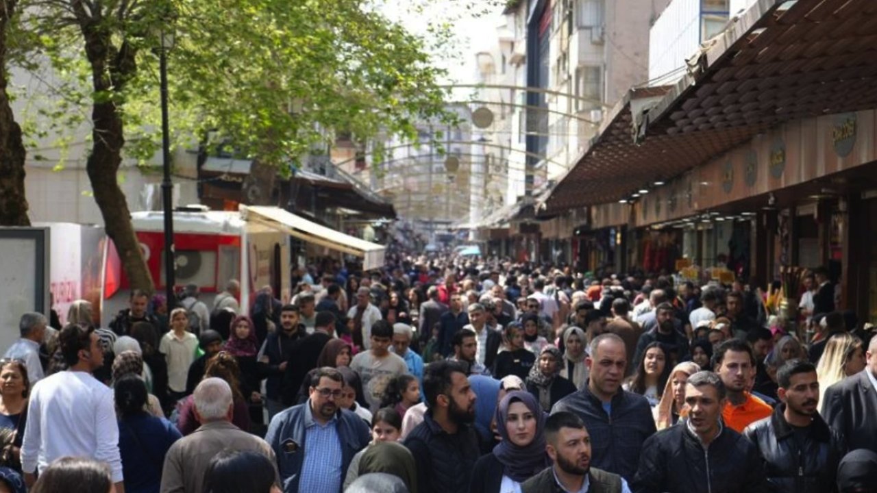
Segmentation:
[(82, 457), (61, 457), (39, 475), (31, 493), (94, 493), (112, 487), (110, 466)]

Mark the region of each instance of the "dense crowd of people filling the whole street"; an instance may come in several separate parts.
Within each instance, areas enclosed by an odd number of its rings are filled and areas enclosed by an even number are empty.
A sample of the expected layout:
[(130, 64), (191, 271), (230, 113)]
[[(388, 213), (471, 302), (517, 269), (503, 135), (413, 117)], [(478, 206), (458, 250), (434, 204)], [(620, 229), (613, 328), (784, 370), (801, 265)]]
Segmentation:
[(27, 313), (0, 492), (877, 492), (877, 338), (774, 289), (394, 256)]

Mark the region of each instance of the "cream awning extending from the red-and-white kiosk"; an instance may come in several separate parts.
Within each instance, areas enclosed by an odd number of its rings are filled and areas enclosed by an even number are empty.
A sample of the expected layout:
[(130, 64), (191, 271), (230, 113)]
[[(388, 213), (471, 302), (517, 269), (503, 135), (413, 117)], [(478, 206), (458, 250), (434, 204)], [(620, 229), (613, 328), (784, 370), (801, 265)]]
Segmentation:
[(384, 247), (317, 225), (279, 207), (241, 205), (240, 215), (247, 222), (265, 225), (276, 231), (287, 232), (297, 239), (361, 257), (363, 270), (381, 268), (384, 265)]

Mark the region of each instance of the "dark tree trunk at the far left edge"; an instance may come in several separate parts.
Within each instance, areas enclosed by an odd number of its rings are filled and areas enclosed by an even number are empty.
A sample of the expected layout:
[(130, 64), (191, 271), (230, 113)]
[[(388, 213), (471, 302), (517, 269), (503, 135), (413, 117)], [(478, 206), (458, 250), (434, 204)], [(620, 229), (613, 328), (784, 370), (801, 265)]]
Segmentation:
[(16, 0), (0, 4), (0, 225), (29, 226), (25, 196), (25, 145), (6, 92), (6, 32)]

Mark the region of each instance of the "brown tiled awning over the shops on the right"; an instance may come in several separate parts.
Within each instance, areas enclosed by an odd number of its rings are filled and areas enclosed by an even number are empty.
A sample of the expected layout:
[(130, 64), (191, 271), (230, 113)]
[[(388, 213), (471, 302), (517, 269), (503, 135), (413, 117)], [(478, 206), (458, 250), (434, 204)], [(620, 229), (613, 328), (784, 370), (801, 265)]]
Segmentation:
[(631, 89), (546, 211), (616, 202), (789, 120), (877, 107), (875, 79), (877, 2), (759, 0), (676, 85)]

